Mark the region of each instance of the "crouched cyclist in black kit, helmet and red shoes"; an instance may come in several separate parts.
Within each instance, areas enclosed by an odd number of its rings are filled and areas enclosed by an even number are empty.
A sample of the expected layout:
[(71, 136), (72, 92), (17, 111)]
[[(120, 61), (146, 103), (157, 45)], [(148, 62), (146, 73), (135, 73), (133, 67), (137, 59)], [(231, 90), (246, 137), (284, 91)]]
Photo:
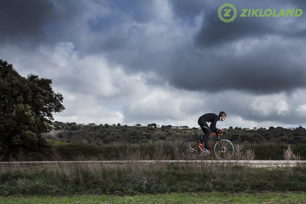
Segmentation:
[[(226, 118), (226, 113), (221, 111), (219, 113), (219, 115), (215, 114), (215, 113), (206, 113), (204, 115), (202, 115), (199, 120), (198, 120), (198, 124), (200, 125), (202, 131), (204, 132), (204, 136), (202, 137), (198, 147), (201, 151), (204, 151), (207, 149), (207, 145), (208, 145), (208, 137), (212, 132), (215, 132), (216, 135), (220, 134), (220, 130), (218, 128), (216, 128), (216, 123), (217, 121), (224, 121)], [(211, 123), (210, 126), (208, 127), (207, 123)], [(204, 142), (204, 150), (203, 150), (203, 142)], [(211, 154), (211, 151), (207, 150), (208, 154)]]

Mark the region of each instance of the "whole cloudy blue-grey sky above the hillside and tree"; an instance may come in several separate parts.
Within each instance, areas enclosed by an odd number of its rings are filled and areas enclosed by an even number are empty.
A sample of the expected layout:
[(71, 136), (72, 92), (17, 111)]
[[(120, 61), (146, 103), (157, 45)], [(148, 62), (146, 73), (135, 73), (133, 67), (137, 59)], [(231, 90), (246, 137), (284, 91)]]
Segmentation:
[(2, 0), (0, 24), (0, 58), (63, 95), (56, 121), (198, 127), (225, 111), (218, 128), (306, 126), (306, 1)]

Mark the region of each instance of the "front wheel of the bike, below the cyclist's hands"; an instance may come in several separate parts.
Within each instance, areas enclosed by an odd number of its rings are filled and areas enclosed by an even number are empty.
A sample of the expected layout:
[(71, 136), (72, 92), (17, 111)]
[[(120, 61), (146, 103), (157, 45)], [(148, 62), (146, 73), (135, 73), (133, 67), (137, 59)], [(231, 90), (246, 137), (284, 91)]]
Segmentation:
[(234, 145), (230, 140), (220, 139), (215, 144), (214, 153), (219, 160), (230, 159), (234, 155)]

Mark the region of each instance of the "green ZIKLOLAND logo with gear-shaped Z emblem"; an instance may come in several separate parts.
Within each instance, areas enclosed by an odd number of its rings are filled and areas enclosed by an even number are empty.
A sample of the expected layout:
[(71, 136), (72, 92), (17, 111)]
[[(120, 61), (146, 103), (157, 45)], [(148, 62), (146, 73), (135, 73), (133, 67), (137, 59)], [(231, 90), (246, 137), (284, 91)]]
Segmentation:
[[(300, 17), (302, 14), (302, 9), (241, 9), (239, 17)], [(224, 23), (230, 23), (237, 17), (237, 9), (233, 4), (222, 4), (218, 17)]]

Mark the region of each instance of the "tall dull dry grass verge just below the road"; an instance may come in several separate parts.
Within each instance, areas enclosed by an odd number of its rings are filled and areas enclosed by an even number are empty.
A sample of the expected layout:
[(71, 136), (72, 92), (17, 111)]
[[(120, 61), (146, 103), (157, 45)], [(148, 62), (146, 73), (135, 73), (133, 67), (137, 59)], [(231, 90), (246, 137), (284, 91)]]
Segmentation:
[(0, 171), (0, 196), (136, 195), (170, 192), (304, 191), (306, 165), (253, 168), (246, 163), (54, 166), (32, 171)]

